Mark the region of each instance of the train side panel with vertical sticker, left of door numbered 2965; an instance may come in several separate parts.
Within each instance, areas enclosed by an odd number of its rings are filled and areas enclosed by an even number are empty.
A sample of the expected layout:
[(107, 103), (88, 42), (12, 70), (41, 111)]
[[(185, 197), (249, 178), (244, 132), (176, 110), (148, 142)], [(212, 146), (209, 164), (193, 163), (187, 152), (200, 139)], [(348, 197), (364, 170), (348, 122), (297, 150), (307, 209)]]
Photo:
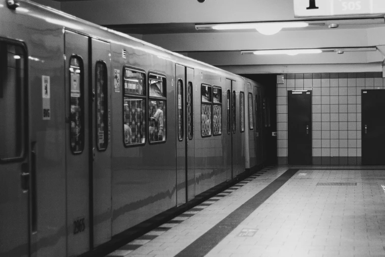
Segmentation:
[[(52, 15), (24, 2), (20, 2), (20, 6), (41, 17), (48, 18)], [(66, 125), (62, 28), (47, 23), (38, 16), (23, 15), (6, 7), (0, 8), (0, 20), (4, 24), (0, 29), (0, 37), (23, 41), (28, 51), (28, 56), (25, 56), (28, 59), (28, 68), (25, 68), (28, 70), (29, 81), (25, 89), (29, 94), (30, 210), (26, 208), (24, 211), (30, 216), (30, 254), (52, 256), (55, 253), (57, 256), (65, 256)], [(17, 188), (20, 189), (20, 186)], [(1, 219), (3, 223), (6, 217), (1, 215)], [(21, 235), (22, 231), (17, 231), (17, 236), (12, 236), (9, 232), (1, 229), (0, 233), (6, 233), (6, 237), (13, 241), (24, 236)], [(18, 256), (22, 247), (9, 249), (10, 252), (4, 252), (1, 247), (0, 255)]]

